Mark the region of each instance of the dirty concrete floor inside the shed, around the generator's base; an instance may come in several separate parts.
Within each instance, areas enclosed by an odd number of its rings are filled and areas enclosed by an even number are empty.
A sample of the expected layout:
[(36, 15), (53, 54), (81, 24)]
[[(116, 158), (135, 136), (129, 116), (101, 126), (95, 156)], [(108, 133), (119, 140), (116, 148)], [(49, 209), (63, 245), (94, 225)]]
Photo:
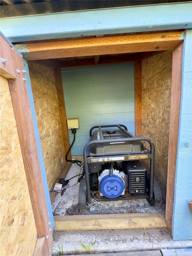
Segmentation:
[[(72, 164), (66, 179), (78, 175), (80, 173), (80, 167), (76, 164)], [(77, 183), (78, 177), (70, 180), (69, 186), (64, 194), (58, 194), (55, 202), (52, 206), (54, 216), (58, 215), (79, 215), (82, 214), (78, 211), (78, 194), (79, 194), (79, 183)], [(154, 207), (150, 206), (146, 199), (137, 199), (137, 200), (119, 200), (111, 201), (100, 204), (95, 204), (97, 208), (106, 210), (101, 212), (95, 210), (90, 212), (89, 209), (83, 214), (120, 214), (120, 213), (140, 213), (140, 212), (165, 212), (165, 204), (162, 200), (160, 188), (158, 186), (157, 178), (154, 179), (154, 193), (156, 198), (156, 204)], [(118, 210), (115, 210), (117, 209)], [(122, 209), (119, 209), (122, 208)], [(133, 208), (130, 210), (130, 208)], [(110, 210), (111, 209), (111, 210)]]

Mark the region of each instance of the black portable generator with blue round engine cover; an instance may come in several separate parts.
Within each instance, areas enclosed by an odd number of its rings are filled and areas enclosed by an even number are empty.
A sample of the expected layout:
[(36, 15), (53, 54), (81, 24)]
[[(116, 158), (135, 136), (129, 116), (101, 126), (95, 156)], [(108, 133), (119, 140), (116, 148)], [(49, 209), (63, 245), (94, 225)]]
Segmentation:
[[(112, 127), (116, 129), (102, 130)], [(94, 129), (97, 130), (92, 134)], [(150, 150), (144, 147), (142, 141), (150, 144)], [(154, 206), (152, 140), (134, 137), (122, 124), (93, 126), (83, 157), (84, 169), (79, 178), (80, 211), (87, 204), (91, 206), (94, 200), (100, 202), (146, 198)], [(144, 167), (144, 160), (150, 160), (149, 174)]]

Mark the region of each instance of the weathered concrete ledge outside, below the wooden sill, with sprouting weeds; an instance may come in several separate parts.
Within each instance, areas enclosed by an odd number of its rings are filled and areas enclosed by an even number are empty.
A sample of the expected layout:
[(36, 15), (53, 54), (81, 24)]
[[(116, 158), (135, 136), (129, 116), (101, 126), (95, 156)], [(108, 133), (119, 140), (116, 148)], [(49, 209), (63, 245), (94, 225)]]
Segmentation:
[[(86, 250), (81, 243), (88, 245), (96, 240), (92, 252), (130, 252), (161, 250), (165, 248), (192, 248), (192, 241), (173, 241), (166, 229), (134, 229), (134, 230), (92, 230), (55, 232), (53, 254), (59, 255), (58, 246), (63, 244), (63, 255), (84, 254)], [(142, 254), (140, 254), (142, 255)]]

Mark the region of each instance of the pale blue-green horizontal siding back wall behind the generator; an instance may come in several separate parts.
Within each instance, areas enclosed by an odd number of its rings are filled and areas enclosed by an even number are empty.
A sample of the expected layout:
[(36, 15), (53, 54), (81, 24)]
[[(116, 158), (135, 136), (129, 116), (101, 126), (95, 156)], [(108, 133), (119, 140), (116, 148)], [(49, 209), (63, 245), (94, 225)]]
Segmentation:
[(134, 134), (133, 63), (65, 69), (62, 80), (67, 117), (80, 119), (72, 155), (82, 155), (94, 125), (125, 124)]

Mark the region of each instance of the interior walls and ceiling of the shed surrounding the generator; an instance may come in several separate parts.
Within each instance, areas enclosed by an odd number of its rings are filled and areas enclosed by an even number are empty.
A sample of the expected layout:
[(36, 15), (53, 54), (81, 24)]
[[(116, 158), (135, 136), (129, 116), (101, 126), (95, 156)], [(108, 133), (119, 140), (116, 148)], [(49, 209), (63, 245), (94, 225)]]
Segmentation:
[[(156, 148), (155, 176), (166, 200), (172, 50), (61, 59), (63, 88), (54, 61), (28, 62), (50, 191), (71, 166), (65, 160), (72, 142), (66, 118), (79, 117), (71, 150), (74, 159), (82, 159), (89, 129), (97, 124), (122, 123), (132, 134), (151, 138)], [(142, 120), (141, 126), (136, 118)], [(56, 194), (50, 192), (52, 203)]]

